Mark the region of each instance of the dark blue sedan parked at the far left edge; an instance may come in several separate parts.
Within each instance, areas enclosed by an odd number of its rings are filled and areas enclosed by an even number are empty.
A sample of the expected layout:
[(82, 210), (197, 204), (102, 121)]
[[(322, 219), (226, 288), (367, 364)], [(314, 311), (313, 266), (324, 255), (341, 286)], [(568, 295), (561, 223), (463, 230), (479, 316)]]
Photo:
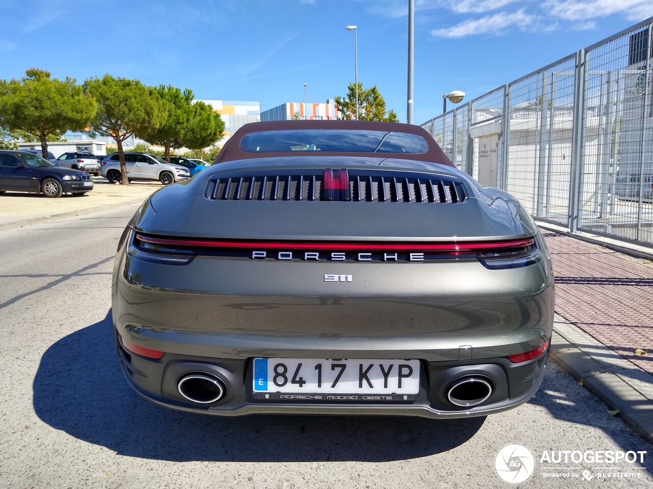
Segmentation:
[(34, 153), (0, 151), (0, 194), (37, 192), (46, 197), (76, 196), (93, 190), (91, 175), (61, 168)]

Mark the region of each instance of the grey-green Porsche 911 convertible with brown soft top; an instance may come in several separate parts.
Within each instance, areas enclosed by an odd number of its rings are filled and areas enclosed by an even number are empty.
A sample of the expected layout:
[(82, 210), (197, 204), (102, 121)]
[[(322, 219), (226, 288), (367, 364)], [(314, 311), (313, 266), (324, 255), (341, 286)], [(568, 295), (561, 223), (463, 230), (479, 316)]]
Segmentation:
[(112, 303), (155, 404), (455, 418), (535, 394), (554, 286), (528, 213), (418, 126), (278, 121), (140, 206)]

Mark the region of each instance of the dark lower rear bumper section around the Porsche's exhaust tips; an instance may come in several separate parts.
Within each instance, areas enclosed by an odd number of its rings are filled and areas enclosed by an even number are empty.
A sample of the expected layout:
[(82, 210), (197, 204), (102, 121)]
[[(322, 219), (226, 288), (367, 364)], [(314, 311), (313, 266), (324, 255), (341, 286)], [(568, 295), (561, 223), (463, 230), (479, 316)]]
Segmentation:
[[(505, 358), (478, 361), (421, 361), (421, 384), (415, 400), (382, 404), (378, 401), (350, 400), (347, 404), (280, 402), (255, 399), (251, 395), (251, 358), (210, 358), (165, 353), (152, 360), (123, 348), (119, 335), (116, 346), (123, 374), (129, 385), (146, 400), (195, 413), (223, 416), (283, 413), (306, 415), (402, 415), (427, 418), (485, 416), (512, 409), (527, 402), (541, 385), (547, 354), (532, 361), (512, 364)], [(263, 354), (264, 350), (261, 350)], [(418, 352), (414, 352), (417, 354)], [(368, 355), (368, 351), (351, 355)], [(387, 352), (389, 357), (392, 353)], [(177, 385), (183, 375), (203, 373), (220, 379), (227, 394), (219, 402), (196, 404), (183, 398)], [(494, 387), (490, 397), (472, 408), (460, 408), (447, 401), (445, 391), (455, 380), (466, 376), (488, 379)], [(359, 399), (362, 396), (359, 396)]]

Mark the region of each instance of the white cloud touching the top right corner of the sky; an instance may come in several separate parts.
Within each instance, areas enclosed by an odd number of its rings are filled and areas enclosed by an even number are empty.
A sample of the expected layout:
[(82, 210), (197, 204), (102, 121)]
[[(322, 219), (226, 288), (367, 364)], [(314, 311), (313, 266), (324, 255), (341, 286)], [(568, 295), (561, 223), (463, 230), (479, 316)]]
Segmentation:
[(542, 6), (566, 20), (584, 21), (618, 13), (628, 20), (643, 20), (653, 15), (650, 0), (547, 0)]

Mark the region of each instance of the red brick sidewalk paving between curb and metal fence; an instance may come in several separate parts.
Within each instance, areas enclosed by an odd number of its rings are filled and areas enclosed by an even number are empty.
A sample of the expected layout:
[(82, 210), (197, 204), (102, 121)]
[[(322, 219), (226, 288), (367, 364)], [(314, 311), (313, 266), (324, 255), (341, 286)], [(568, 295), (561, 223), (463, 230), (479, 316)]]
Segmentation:
[[(543, 233), (553, 261), (556, 312), (653, 373), (653, 263), (557, 233)], [(635, 355), (635, 349), (646, 355)]]

